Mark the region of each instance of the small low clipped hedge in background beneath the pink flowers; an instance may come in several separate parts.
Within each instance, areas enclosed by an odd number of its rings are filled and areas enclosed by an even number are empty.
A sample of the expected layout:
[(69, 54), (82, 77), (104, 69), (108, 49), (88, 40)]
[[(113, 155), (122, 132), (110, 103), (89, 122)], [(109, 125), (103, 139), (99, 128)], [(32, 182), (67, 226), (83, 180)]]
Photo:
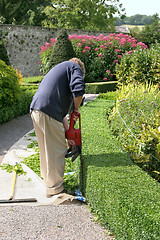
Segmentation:
[(115, 91), (117, 82), (99, 82), (99, 83), (86, 83), (86, 93), (106, 93), (108, 91)]

